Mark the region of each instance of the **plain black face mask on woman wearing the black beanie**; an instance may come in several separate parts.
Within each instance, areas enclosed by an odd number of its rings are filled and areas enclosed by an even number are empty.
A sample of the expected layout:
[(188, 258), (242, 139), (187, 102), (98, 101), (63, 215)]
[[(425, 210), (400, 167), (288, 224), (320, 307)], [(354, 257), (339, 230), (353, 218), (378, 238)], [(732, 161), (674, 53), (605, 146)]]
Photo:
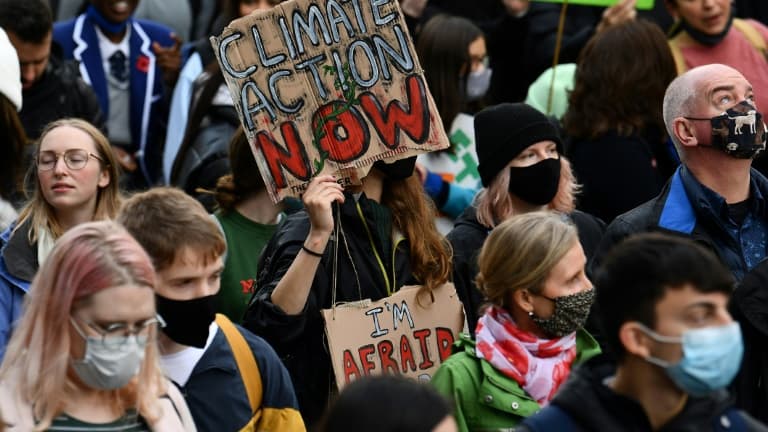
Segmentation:
[(509, 193), (533, 205), (549, 204), (560, 186), (560, 158), (509, 167)]

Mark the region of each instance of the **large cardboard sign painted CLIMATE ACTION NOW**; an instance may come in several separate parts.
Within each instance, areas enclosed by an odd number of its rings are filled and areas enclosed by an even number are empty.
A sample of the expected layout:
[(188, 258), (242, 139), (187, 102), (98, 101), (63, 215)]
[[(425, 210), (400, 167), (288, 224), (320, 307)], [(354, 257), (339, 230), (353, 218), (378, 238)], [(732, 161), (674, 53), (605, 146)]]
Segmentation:
[(275, 201), (448, 147), (398, 0), (291, 0), (211, 43)]

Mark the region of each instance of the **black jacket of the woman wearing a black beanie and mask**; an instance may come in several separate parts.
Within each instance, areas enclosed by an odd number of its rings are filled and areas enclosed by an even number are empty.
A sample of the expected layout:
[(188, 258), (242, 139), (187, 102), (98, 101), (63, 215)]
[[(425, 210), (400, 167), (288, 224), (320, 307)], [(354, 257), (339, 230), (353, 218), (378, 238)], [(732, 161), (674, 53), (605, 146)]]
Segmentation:
[[(475, 207), (468, 207), (456, 220), (453, 229), (447, 236), (453, 247), (453, 284), (464, 304), (464, 312), (467, 315), (471, 335), (475, 334), (475, 325), (480, 317), (480, 309), (485, 303), (483, 295), (475, 286), (475, 277), (478, 272), (477, 256), (480, 254), (483, 242), (491, 232), (488, 227), (477, 220), (476, 212)], [(605, 224), (600, 219), (578, 210), (569, 216), (579, 231), (579, 241), (589, 260), (597, 250), (605, 230)], [(592, 332), (593, 329), (589, 330)]]

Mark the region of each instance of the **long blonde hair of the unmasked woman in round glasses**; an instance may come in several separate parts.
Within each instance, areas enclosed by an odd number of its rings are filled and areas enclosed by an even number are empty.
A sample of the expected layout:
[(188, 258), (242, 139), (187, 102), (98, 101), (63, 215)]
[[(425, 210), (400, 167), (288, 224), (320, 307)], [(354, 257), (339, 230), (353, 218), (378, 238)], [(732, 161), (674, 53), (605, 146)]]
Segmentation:
[[(117, 211), (120, 209), (120, 171), (117, 159), (115, 159), (112, 146), (109, 144), (107, 137), (101, 133), (95, 126), (88, 123), (85, 120), (78, 118), (65, 118), (51, 122), (45, 127), (40, 134), (40, 138), (35, 144), (35, 158), (40, 153), (40, 144), (52, 130), (69, 126), (75, 129), (79, 129), (85, 132), (93, 140), (93, 145), (96, 148), (96, 153), (101, 158), (99, 161), (101, 169), (106, 170), (109, 174), (109, 184), (103, 188), (99, 188), (96, 196), (96, 211), (93, 214), (93, 220), (112, 219), (117, 215)], [(35, 166), (33, 164), (32, 166)], [(24, 225), (25, 222), (31, 221), (32, 225), (29, 228), (29, 242), (34, 243), (39, 238), (38, 230), (44, 229), (51, 233), (54, 239), (61, 237), (63, 229), (56, 218), (56, 211), (45, 200), (43, 190), (40, 186), (37, 170), (31, 168), (28, 172), (28, 179), (32, 183), (32, 196), (19, 212), (19, 219), (16, 223), (15, 230)]]

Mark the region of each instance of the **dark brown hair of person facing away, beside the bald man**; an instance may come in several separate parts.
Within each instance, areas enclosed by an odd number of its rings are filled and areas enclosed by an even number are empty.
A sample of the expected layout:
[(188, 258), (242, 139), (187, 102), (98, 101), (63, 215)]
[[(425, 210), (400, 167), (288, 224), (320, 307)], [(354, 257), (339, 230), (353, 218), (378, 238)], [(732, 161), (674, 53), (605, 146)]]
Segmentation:
[(612, 26), (584, 47), (563, 124), (568, 135), (628, 136), (649, 126), (665, 130), (662, 101), (677, 76), (664, 33), (646, 20)]

